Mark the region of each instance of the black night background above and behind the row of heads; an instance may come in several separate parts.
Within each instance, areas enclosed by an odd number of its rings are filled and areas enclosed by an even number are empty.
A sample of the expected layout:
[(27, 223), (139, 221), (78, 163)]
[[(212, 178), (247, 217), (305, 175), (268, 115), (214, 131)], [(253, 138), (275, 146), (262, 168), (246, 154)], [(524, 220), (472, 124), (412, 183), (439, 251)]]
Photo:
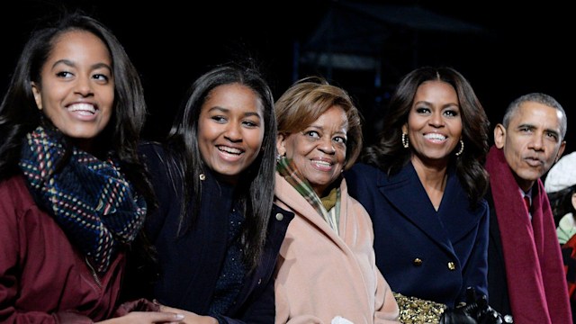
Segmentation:
[[(331, 1), (295, 0), (267, 2), (224, 1), (40, 1), (4, 2), (0, 10), (2, 64), (0, 90), (4, 94), (17, 56), (35, 23), (59, 5), (80, 7), (102, 21), (119, 38), (138, 68), (147, 96), (150, 118), (145, 137), (159, 138), (169, 127), (171, 113), (180, 104), (185, 89), (208, 68), (247, 55), (259, 62), (275, 98), (294, 78), (319, 74), (341, 85), (355, 98), (365, 116), (365, 140), (376, 138), (378, 121), (400, 77), (413, 67), (455, 67), (473, 85), (492, 125), (500, 121), (510, 101), (521, 94), (553, 95), (568, 115), (565, 152), (576, 149), (574, 130), (574, 15), (569, 2), (509, 4), (503, 1)], [(344, 4), (401, 5), (434, 17), (436, 23), (454, 31), (414, 27), (424, 21), (394, 14), (390, 22), (376, 22), (361, 15), (350, 23), (355, 11)], [(339, 8), (339, 9), (338, 9)], [(311, 37), (332, 10), (344, 13), (328, 26), (333, 35), (350, 34), (349, 40), (330, 39), (320, 50), (337, 45), (360, 50), (374, 44), (368, 53), (379, 62), (376, 69), (341, 69), (295, 59), (295, 44), (301, 57), (311, 48)], [(399, 12), (400, 13), (400, 12)], [(454, 20), (475, 31), (463, 31)], [(400, 23), (399, 23), (400, 22)], [(379, 33), (374, 33), (374, 23)], [(369, 35), (368, 35), (369, 34)], [(366, 38), (367, 37), (367, 38)], [(316, 48), (319, 49), (319, 48)], [(347, 49), (347, 50), (351, 50)], [(349, 53), (348, 53), (349, 54)], [(356, 53), (358, 54), (358, 53)], [(363, 53), (366, 54), (366, 53)], [(299, 62), (299, 67), (294, 63)], [(374, 77), (381, 82), (374, 84)]]

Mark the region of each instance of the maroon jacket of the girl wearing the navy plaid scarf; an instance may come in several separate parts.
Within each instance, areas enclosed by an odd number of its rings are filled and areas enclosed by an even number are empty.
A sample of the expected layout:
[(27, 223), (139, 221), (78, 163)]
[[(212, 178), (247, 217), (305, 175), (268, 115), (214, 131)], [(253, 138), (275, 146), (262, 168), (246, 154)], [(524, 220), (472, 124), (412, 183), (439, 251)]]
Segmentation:
[(91, 323), (112, 317), (125, 257), (94, 277), (22, 176), (0, 183), (0, 322)]

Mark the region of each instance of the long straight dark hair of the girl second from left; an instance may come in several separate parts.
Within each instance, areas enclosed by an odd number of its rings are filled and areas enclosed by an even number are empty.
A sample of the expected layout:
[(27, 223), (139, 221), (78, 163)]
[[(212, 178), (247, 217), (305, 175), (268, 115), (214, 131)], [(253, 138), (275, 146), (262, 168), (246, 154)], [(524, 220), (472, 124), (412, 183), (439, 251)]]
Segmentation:
[[(202, 181), (200, 175), (207, 166), (198, 147), (198, 121), (202, 104), (211, 91), (220, 85), (245, 85), (257, 94), (264, 107), (264, 139), (257, 159), (245, 170), (238, 181), (236, 192), (245, 215), (242, 229), (244, 259), (250, 269), (256, 268), (266, 243), (268, 220), (272, 211), (275, 185), (276, 120), (274, 97), (266, 80), (256, 67), (243, 67), (229, 63), (214, 67), (200, 76), (189, 88), (184, 103), (175, 113), (175, 119), (166, 139), (170, 176), (183, 178), (181, 188), (184, 202), (193, 201), (193, 212), (187, 212), (187, 203), (180, 211), (179, 229), (188, 230), (200, 211)], [(175, 233), (180, 234), (180, 233)]]

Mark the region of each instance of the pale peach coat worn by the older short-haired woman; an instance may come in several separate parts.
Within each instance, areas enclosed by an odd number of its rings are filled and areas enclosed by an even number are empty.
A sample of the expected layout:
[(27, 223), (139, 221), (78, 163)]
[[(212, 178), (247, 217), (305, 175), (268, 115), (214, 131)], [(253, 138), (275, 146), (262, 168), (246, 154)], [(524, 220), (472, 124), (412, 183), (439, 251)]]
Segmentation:
[(398, 304), (375, 264), (372, 220), (346, 181), (340, 236), (283, 176), (276, 173), (275, 181), (276, 203), (295, 213), (276, 266), (275, 323), (399, 323)]

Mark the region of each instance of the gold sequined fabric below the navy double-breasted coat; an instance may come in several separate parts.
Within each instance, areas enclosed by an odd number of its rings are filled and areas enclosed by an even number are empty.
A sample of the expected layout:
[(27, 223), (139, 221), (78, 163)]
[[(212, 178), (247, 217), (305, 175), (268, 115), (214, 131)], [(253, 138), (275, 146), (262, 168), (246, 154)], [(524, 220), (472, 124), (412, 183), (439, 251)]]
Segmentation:
[(407, 297), (393, 293), (400, 308), (400, 321), (404, 324), (438, 324), (446, 310), (446, 305), (439, 302)]

